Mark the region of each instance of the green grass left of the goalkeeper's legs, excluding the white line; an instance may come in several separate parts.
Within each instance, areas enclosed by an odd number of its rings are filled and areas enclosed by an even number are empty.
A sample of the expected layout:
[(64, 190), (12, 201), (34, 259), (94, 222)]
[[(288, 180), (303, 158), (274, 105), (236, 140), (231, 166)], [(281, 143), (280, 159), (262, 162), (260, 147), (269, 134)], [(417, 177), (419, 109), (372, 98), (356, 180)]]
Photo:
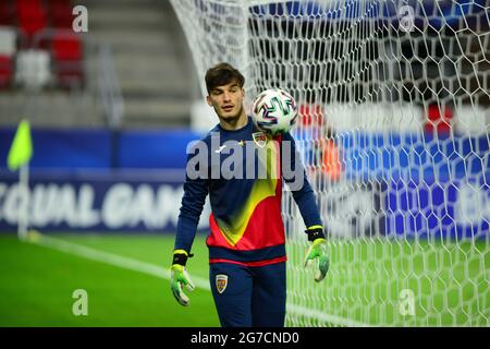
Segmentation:
[[(98, 250), (168, 267), (172, 237), (63, 236)], [(207, 251), (197, 238), (193, 276), (207, 278)], [(72, 313), (73, 291), (88, 293), (88, 315)], [(0, 326), (219, 326), (209, 291), (195, 289), (179, 305), (168, 280), (0, 237)]]

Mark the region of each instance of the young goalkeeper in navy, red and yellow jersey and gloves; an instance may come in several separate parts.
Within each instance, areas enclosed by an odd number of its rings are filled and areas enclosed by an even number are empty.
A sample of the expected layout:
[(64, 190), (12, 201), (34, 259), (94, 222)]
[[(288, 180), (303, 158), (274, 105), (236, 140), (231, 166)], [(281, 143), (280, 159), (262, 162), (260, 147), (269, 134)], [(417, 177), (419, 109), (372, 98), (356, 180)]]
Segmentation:
[[(206, 243), (210, 285), (221, 325), (280, 327), (284, 326), (286, 303), (281, 193), (282, 182), (290, 183), (291, 188), (294, 180), (291, 176), (285, 179), (282, 163), (287, 160), (291, 163), (287, 168), (295, 169), (294, 140), (289, 133), (272, 137), (255, 127), (244, 110), (244, 76), (228, 63), (220, 63), (206, 73), (207, 103), (215, 109), (219, 124), (191, 149), (187, 159), (171, 288), (177, 302), (188, 305), (183, 287), (192, 290), (194, 285), (185, 264), (192, 256), (196, 227), (209, 194), (212, 214)], [(286, 147), (282, 145), (286, 142), (291, 144), (292, 156), (284, 154)], [(250, 146), (252, 152), (249, 148), (241, 152), (241, 147)], [(258, 155), (260, 148), (267, 148), (272, 159), (266, 156), (264, 160)], [(199, 156), (200, 160), (196, 161)], [(231, 157), (234, 161), (230, 161)], [(259, 176), (260, 169), (267, 176)], [(298, 169), (303, 176), (299, 163)], [(243, 174), (245, 170), (247, 176), (230, 176), (240, 171)], [(305, 266), (317, 262), (315, 279), (320, 281), (329, 266), (322, 224), (306, 178), (296, 186), (293, 197), (311, 242)]]

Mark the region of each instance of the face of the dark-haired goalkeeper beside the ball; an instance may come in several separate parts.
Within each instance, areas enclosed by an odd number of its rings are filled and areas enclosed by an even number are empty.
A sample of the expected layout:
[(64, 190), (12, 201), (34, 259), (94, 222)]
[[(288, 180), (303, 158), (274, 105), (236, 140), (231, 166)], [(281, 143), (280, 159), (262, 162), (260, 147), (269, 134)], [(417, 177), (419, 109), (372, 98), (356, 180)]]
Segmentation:
[(244, 89), (236, 82), (231, 82), (212, 88), (206, 99), (220, 119), (232, 121), (241, 117), (244, 97)]

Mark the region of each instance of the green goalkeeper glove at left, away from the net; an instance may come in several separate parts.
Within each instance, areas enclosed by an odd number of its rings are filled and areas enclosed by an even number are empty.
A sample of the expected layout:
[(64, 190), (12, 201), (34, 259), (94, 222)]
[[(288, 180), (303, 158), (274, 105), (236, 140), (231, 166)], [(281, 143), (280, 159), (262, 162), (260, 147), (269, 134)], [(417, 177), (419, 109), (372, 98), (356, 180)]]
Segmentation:
[(173, 297), (175, 297), (176, 301), (184, 306), (189, 304), (189, 299), (184, 293), (183, 287), (188, 291), (192, 291), (195, 288), (194, 282), (185, 268), (188, 256), (193, 255), (187, 255), (187, 252), (184, 250), (173, 251), (172, 267), (170, 268), (170, 286)]

